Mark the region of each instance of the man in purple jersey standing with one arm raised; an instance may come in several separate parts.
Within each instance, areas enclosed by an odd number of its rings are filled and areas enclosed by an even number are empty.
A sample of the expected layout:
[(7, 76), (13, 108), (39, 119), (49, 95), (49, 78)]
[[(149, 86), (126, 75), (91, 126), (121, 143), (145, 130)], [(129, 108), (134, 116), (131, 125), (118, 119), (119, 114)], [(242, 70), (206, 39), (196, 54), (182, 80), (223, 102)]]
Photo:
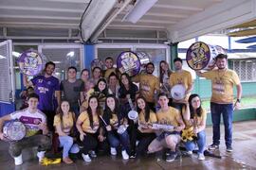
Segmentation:
[(34, 86), (34, 91), (40, 97), (38, 109), (42, 110), (47, 117), (47, 126), (50, 131), (53, 131), (53, 119), (56, 106), (54, 105), (57, 97), (58, 105), (61, 101), (60, 82), (57, 77), (52, 76), (55, 70), (55, 63), (52, 61), (46, 62), (45, 75), (35, 76), (31, 81), (27, 82), (27, 76), (24, 76), (25, 86)]

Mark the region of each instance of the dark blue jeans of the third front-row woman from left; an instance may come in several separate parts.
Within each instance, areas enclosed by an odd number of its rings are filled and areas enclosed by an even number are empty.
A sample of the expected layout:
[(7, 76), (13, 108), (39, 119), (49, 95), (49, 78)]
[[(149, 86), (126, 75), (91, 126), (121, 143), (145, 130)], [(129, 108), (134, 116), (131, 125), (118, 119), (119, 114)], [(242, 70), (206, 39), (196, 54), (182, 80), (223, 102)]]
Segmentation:
[(121, 150), (129, 151), (130, 139), (127, 130), (122, 134), (119, 134), (117, 130), (108, 131), (107, 140), (111, 147), (118, 147), (121, 144)]

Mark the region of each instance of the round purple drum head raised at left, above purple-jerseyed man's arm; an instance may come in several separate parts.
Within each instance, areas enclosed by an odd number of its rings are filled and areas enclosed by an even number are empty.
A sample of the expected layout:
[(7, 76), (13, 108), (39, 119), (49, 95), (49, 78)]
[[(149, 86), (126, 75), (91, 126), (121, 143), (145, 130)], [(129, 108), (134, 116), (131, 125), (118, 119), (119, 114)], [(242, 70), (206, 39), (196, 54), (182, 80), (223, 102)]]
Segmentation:
[(43, 70), (46, 57), (34, 49), (23, 52), (18, 59), (20, 71), (27, 76), (36, 76)]

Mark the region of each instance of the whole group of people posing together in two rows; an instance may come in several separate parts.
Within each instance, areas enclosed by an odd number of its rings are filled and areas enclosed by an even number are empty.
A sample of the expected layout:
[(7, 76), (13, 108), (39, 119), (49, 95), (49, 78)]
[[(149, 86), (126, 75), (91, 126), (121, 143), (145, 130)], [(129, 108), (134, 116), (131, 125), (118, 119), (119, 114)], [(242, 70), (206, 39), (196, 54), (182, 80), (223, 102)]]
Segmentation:
[[(227, 68), (228, 56), (219, 54), (216, 68), (198, 76), (211, 80), (210, 112), (213, 124), (213, 144), (220, 144), (220, 118), (223, 114), (227, 151), (232, 151), (232, 113), (239, 108), (242, 86), (237, 74)], [(48, 131), (57, 134), (63, 147), (63, 161), (72, 163), (69, 153), (82, 154), (84, 161), (97, 157), (99, 151), (118, 154), (123, 160), (137, 158), (164, 149), (166, 161), (174, 161), (181, 141), (188, 154), (198, 145), (198, 159), (205, 160), (207, 112), (201, 106), (200, 96), (192, 93), (192, 74), (182, 69), (182, 59), (174, 59), (174, 71), (162, 60), (159, 77), (153, 75), (155, 64), (146, 64), (145, 73), (129, 76), (113, 67), (112, 58), (105, 59), (106, 70), (100, 67), (83, 69), (77, 78), (77, 69), (69, 67), (67, 78), (53, 75), (55, 64), (46, 63), (44, 75), (24, 83), (33, 87), (27, 96), (27, 109), (15, 111), (0, 118), (0, 139), (5, 135), (5, 121), (19, 119), (27, 126), (27, 136), (9, 142), (9, 153), (15, 164), (22, 161), (21, 150), (37, 145), (39, 161), (51, 147)], [(185, 87), (185, 96), (175, 100), (170, 95), (176, 84)], [(237, 99), (233, 104), (233, 86)], [(192, 94), (191, 94), (192, 93)], [(137, 119), (129, 119), (128, 112), (136, 110)], [(36, 120), (36, 121), (35, 121)], [(185, 135), (191, 131), (192, 135)], [(183, 133), (183, 135), (182, 135)]]

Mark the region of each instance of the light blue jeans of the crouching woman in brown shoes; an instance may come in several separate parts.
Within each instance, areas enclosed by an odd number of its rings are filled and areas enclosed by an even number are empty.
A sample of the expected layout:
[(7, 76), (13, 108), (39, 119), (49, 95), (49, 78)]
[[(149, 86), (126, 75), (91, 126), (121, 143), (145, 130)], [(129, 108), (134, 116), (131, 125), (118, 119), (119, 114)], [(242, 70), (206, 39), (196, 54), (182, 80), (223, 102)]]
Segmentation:
[(68, 157), (68, 153), (78, 153), (78, 144), (73, 144), (73, 138), (70, 136), (59, 136), (60, 146), (64, 147), (63, 158)]

